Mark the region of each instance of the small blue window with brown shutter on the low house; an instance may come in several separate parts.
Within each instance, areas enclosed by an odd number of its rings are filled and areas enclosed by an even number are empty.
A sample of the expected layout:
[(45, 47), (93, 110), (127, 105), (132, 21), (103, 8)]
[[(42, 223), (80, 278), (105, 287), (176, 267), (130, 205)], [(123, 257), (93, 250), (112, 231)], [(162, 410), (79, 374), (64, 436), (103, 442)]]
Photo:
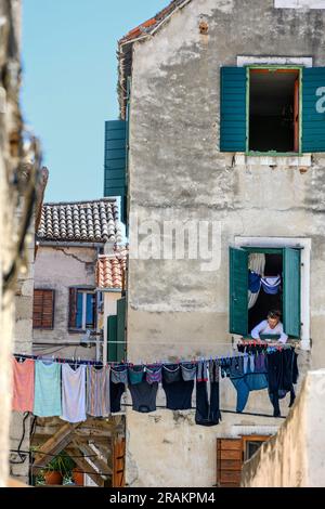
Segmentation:
[(69, 289), (69, 329), (92, 330), (96, 327), (96, 295), (82, 288)]

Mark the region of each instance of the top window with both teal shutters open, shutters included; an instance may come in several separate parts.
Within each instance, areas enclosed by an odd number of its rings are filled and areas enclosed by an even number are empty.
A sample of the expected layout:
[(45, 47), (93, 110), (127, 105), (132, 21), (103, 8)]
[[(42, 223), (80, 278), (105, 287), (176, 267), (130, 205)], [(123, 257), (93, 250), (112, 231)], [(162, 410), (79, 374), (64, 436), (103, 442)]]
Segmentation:
[(325, 67), (222, 67), (220, 151), (325, 152)]

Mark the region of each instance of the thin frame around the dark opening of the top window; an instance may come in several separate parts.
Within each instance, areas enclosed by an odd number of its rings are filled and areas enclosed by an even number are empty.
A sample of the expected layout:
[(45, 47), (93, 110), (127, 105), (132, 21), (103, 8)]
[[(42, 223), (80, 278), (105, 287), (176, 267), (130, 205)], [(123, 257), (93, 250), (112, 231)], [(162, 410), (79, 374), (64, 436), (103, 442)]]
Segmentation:
[[(256, 65), (247, 65), (246, 67), (246, 156), (288, 156), (288, 157), (301, 157), (303, 156), (302, 153), (302, 75), (303, 75), (303, 66), (302, 65), (265, 65), (265, 64), (256, 64)], [(265, 70), (298, 70), (299, 71), (299, 148), (298, 152), (276, 152), (276, 151), (269, 151), (269, 152), (258, 152), (258, 151), (250, 151), (249, 149), (249, 112), (250, 112), (250, 70), (252, 69), (265, 69)]]

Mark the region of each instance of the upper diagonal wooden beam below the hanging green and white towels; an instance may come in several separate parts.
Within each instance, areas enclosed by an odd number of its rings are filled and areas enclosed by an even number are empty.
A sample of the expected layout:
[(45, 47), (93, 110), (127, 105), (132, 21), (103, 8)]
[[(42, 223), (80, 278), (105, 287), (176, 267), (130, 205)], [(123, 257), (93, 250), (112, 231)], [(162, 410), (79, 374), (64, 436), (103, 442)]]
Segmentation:
[(60, 454), (72, 441), (76, 428), (79, 425), (66, 423), (40, 447), (35, 456), (32, 468), (44, 468)]

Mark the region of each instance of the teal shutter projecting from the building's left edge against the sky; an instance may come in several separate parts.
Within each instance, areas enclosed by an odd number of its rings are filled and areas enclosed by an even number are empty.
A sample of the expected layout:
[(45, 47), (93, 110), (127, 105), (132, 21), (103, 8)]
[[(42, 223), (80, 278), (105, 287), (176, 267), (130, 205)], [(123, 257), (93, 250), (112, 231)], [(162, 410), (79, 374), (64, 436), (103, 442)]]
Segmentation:
[(105, 122), (104, 196), (126, 195), (127, 130), (125, 120)]

